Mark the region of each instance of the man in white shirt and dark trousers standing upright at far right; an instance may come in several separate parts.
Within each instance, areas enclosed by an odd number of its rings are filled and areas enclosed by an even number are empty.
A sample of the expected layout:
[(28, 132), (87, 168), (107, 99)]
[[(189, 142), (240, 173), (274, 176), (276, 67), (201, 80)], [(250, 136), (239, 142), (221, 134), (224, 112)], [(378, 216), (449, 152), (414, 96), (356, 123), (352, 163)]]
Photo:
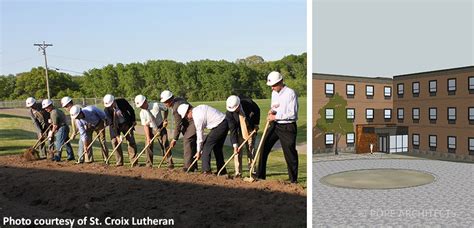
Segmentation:
[(298, 151), (296, 150), (296, 121), (298, 97), (294, 90), (283, 83), (283, 76), (276, 71), (268, 74), (267, 85), (272, 88), (271, 109), (267, 120), (271, 122), (259, 158), (257, 177), (266, 178), (267, 159), (272, 147), (280, 140), (292, 183), (298, 180)]

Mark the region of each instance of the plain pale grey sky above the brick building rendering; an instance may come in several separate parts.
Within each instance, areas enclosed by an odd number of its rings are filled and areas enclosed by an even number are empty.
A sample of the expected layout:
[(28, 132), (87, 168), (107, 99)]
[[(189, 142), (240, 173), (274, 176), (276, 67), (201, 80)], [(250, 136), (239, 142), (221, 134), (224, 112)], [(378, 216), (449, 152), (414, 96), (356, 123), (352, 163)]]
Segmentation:
[(472, 0), (314, 0), (313, 72), (393, 76), (474, 65)]

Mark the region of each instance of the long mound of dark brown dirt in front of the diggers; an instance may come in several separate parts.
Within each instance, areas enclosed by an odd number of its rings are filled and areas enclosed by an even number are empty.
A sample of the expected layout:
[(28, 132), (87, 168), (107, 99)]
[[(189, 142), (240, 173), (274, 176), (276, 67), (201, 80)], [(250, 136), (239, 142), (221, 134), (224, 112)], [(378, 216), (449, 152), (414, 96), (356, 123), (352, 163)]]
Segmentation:
[[(172, 218), (177, 227), (306, 227), (306, 190), (181, 170), (0, 156), (0, 217)], [(76, 226), (75, 226), (76, 227)]]

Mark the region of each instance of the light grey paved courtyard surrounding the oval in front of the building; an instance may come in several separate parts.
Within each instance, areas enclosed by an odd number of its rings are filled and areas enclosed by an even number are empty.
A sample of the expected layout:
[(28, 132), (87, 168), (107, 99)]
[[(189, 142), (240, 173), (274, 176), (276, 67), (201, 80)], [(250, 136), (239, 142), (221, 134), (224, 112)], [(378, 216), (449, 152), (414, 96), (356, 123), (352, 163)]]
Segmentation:
[[(474, 164), (376, 157), (314, 160), (315, 227), (472, 227), (474, 224)], [(388, 190), (340, 188), (321, 182), (321, 178), (330, 174), (366, 169), (418, 170), (432, 174), (434, 181)]]

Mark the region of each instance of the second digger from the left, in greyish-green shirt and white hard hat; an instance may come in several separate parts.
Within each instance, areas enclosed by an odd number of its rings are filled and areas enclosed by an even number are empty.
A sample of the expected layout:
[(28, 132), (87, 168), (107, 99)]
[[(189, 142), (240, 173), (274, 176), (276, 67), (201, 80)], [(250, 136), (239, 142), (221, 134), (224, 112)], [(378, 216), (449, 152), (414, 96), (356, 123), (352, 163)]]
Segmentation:
[[(50, 114), (51, 124), (53, 127), (49, 131), (49, 138), (54, 138), (54, 147), (57, 150), (53, 156), (53, 161), (61, 161), (62, 147), (63, 144), (68, 141), (69, 137), (69, 126), (66, 122), (66, 115), (64, 112), (55, 108), (53, 102), (49, 99), (43, 100), (42, 108)], [(67, 160), (74, 160), (74, 152), (72, 151), (71, 143), (65, 145), (67, 152)]]

